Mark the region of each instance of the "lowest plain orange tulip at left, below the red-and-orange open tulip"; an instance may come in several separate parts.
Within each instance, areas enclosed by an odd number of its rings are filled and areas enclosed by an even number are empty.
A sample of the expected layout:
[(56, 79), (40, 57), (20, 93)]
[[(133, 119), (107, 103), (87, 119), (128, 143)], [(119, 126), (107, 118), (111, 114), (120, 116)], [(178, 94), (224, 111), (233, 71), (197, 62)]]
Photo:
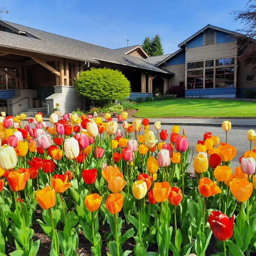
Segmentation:
[(43, 208), (44, 210), (50, 209), (55, 206), (56, 203), (55, 190), (51, 189), (49, 186), (37, 190), (35, 192), (35, 199), (41, 206), (41, 208)]

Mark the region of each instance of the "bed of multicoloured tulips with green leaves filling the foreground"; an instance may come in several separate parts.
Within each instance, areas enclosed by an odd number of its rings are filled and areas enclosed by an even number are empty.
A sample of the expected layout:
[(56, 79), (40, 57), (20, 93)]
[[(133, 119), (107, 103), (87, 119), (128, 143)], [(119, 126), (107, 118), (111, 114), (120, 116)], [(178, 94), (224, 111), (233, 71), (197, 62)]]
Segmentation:
[(42, 113), (25, 126), (26, 114), (1, 115), (0, 255), (44, 255), (47, 241), (48, 255), (64, 256), (79, 255), (81, 243), (111, 256), (255, 251), (256, 150), (245, 151), (234, 174), (229, 121), (225, 142), (211, 132), (198, 138), (192, 176), (178, 126), (168, 134), (160, 121), (129, 125), (126, 112), (118, 123), (53, 113), (51, 127)]

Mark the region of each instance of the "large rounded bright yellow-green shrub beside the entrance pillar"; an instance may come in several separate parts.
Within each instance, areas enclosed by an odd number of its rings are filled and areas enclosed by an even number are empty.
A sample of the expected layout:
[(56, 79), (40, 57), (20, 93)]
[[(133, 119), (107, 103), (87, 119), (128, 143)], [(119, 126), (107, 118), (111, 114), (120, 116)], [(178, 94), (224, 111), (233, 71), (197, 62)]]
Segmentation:
[(91, 68), (80, 73), (76, 80), (77, 92), (92, 100), (95, 106), (123, 100), (130, 95), (130, 82), (118, 70)]

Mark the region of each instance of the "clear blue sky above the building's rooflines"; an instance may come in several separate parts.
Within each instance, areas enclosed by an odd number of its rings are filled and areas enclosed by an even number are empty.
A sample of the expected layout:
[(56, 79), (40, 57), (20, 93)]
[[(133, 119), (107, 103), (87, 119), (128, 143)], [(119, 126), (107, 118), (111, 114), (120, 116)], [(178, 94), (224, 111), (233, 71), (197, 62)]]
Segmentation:
[(248, 0), (1, 0), (2, 19), (108, 48), (160, 34), (165, 54), (207, 24), (241, 28), (229, 13)]

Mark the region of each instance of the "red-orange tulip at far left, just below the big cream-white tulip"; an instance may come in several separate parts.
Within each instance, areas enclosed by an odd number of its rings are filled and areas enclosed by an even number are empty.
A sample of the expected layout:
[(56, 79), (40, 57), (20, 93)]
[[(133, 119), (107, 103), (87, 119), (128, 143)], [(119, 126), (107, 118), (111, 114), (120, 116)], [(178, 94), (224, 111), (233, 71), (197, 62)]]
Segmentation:
[(26, 182), (29, 179), (29, 172), (25, 169), (18, 169), (15, 172), (10, 172), (7, 177), (8, 185), (12, 191), (21, 191), (25, 188)]

